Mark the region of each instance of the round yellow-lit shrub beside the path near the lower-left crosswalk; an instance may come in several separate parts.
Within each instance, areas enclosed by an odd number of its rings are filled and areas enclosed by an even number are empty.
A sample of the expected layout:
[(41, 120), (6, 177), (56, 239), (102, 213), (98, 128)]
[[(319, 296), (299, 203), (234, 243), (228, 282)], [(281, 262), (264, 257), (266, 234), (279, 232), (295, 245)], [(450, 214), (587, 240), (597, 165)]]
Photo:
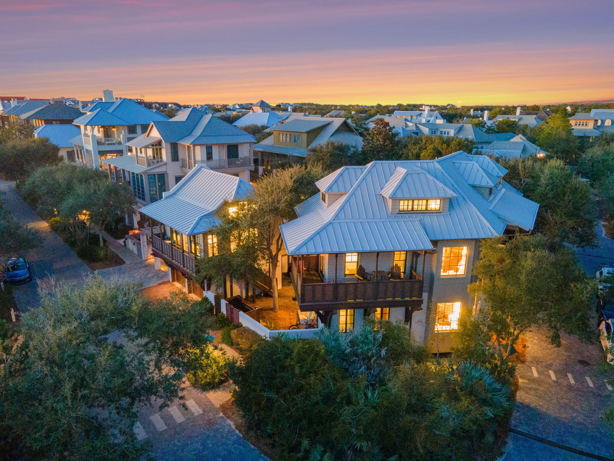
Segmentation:
[(197, 389), (214, 389), (228, 380), (230, 358), (212, 344), (189, 349), (185, 362), (185, 377)]

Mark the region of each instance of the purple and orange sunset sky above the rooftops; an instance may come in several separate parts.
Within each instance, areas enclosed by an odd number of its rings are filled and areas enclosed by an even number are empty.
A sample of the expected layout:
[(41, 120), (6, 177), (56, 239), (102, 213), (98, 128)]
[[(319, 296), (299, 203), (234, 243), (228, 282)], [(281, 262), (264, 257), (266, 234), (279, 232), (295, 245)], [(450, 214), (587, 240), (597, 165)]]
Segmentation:
[(0, 0), (0, 95), (614, 99), (612, 0)]

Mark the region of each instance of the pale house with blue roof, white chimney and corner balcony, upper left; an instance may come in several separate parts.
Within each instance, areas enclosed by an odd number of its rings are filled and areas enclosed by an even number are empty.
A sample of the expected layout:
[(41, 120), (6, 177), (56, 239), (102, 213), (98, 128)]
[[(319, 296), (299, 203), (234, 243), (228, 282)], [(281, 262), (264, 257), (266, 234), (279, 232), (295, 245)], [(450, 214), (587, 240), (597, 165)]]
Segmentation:
[(100, 167), (100, 160), (128, 154), (132, 148), (127, 143), (145, 133), (154, 120), (168, 120), (130, 99), (116, 101), (111, 90), (103, 93), (104, 101), (82, 109), (85, 115), (72, 122), (81, 130), (72, 140), (77, 161), (93, 168)]

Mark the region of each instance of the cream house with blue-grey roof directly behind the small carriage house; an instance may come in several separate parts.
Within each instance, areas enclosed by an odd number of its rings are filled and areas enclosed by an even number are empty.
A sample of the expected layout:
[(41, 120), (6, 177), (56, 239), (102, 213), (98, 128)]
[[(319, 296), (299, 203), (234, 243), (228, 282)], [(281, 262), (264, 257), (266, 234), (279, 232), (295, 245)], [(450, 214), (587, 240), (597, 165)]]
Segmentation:
[(157, 120), (128, 141), (133, 154), (101, 159), (101, 168), (129, 184), (139, 204), (156, 202), (196, 165), (249, 181), (254, 170), (254, 136), (189, 108), (170, 120)]

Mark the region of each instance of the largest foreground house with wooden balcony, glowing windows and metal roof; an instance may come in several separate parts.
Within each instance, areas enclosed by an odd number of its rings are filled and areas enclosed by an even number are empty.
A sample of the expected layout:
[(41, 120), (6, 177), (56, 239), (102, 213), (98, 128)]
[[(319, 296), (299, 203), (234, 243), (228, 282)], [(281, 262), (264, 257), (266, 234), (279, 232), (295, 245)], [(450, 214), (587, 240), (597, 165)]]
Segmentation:
[(418, 344), (449, 352), (474, 305), (467, 285), (480, 239), (534, 226), (538, 204), (506, 172), (459, 151), (325, 176), (280, 226), (298, 309), (340, 331), (365, 317), (404, 321)]

